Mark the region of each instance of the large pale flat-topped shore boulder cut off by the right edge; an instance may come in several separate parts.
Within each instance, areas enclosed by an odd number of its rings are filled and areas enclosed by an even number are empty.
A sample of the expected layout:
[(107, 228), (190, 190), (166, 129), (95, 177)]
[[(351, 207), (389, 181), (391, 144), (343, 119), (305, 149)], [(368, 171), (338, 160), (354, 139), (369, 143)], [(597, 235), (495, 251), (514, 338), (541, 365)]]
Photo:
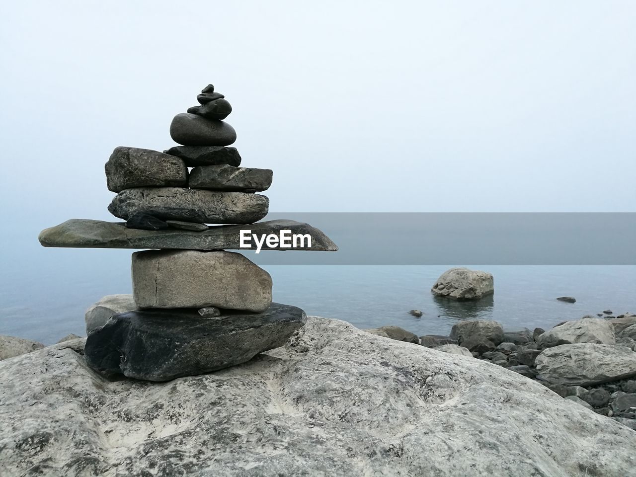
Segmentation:
[(623, 346), (574, 343), (543, 350), (536, 366), (550, 383), (591, 386), (636, 376), (636, 352)]

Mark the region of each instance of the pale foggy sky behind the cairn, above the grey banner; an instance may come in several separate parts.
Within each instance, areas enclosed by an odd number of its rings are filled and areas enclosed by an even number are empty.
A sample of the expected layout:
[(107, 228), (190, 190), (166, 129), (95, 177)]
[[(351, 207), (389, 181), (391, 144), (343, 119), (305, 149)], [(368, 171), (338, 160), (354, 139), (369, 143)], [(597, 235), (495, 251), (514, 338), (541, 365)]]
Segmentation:
[(630, 1), (20, 0), (0, 38), (25, 240), (113, 219), (113, 148), (174, 145), (207, 83), (271, 211), (636, 211)]

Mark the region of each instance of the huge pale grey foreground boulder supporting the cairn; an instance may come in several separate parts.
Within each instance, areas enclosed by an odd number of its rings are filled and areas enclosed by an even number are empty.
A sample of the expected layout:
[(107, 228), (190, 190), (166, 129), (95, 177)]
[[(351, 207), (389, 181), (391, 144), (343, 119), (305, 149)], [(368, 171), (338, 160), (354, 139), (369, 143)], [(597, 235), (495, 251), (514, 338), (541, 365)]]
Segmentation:
[(632, 429), (499, 366), (342, 321), (309, 317), (283, 348), (167, 383), (107, 380), (88, 368), (82, 343), (0, 363), (4, 476), (626, 477), (636, 468)]

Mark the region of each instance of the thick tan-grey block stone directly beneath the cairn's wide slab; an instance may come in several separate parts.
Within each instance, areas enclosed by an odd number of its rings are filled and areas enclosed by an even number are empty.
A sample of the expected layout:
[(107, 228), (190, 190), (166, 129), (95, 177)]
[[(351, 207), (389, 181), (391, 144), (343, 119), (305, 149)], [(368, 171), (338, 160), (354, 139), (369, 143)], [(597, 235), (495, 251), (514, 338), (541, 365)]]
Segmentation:
[(147, 250), (132, 254), (132, 294), (139, 308), (263, 312), (272, 277), (240, 253)]

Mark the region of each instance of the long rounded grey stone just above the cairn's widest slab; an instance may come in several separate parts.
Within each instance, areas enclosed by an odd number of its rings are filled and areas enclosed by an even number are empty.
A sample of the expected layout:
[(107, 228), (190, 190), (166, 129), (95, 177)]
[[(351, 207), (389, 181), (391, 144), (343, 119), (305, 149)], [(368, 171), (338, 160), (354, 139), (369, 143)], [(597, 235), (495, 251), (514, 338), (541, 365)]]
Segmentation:
[(108, 210), (115, 217), (144, 213), (163, 220), (216, 224), (250, 224), (267, 215), (264, 195), (184, 188), (126, 189), (113, 197)]

